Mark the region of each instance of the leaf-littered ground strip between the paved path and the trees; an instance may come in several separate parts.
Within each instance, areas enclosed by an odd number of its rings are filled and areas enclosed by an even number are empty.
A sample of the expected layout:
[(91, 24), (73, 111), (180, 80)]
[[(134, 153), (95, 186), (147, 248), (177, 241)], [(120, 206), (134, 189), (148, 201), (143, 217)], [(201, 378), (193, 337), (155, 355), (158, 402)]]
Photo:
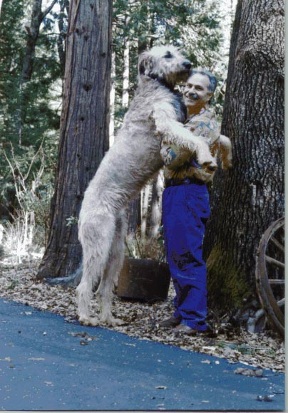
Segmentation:
[[(66, 321), (75, 323), (77, 318), (75, 290), (38, 281), (36, 270), (36, 261), (13, 265), (2, 258), (0, 297), (62, 315)], [(171, 286), (167, 300), (162, 302), (131, 302), (117, 296), (113, 301), (114, 315), (124, 320), (125, 324), (115, 328), (108, 327), (111, 330), (142, 340), (174, 345), (184, 350), (225, 357), (231, 363), (243, 362), (257, 369), (284, 372), (284, 342), (272, 331), (249, 333), (245, 328), (232, 327), (226, 323), (219, 325), (211, 335), (189, 337), (176, 335), (171, 329), (160, 328), (158, 324), (160, 320), (173, 315)], [(92, 312), (97, 311), (98, 304), (94, 299)], [(245, 374), (245, 371), (242, 374)]]

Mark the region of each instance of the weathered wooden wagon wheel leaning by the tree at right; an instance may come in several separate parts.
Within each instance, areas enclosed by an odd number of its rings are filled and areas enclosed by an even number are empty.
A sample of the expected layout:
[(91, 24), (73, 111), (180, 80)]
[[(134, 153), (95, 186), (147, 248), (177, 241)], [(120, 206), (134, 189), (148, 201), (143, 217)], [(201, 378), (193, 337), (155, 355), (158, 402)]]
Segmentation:
[(274, 328), (284, 338), (284, 217), (264, 232), (256, 258), (259, 300)]

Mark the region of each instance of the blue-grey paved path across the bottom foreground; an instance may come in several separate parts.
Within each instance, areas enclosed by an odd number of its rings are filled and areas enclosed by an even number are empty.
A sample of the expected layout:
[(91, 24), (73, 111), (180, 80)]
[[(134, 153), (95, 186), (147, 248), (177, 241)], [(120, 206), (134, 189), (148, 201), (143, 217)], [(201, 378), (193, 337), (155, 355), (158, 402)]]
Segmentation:
[(284, 374), (237, 367), (0, 299), (2, 410), (284, 410)]

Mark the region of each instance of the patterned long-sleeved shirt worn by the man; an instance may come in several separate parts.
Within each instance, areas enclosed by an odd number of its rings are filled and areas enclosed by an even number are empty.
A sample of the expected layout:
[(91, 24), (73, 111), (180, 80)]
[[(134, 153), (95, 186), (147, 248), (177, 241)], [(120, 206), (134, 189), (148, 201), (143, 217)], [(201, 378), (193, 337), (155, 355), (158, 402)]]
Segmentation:
[[(217, 139), (220, 137), (220, 130), (215, 119), (215, 114), (208, 108), (202, 108), (200, 113), (192, 115), (185, 122), (193, 135), (201, 136), (208, 145), (212, 156), (215, 155)], [(176, 145), (163, 144), (160, 150), (165, 168), (165, 179), (185, 179), (195, 177), (202, 182), (212, 182), (215, 172), (202, 169), (196, 162), (195, 155), (190, 150), (180, 148)]]

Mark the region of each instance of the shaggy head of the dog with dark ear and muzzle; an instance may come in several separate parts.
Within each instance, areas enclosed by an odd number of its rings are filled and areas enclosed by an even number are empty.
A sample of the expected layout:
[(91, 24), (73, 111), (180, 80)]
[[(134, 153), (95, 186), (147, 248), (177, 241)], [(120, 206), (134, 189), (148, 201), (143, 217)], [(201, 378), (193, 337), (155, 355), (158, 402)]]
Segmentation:
[(168, 88), (185, 81), (190, 73), (191, 63), (174, 46), (155, 46), (145, 51), (138, 60), (139, 82), (157, 79)]

